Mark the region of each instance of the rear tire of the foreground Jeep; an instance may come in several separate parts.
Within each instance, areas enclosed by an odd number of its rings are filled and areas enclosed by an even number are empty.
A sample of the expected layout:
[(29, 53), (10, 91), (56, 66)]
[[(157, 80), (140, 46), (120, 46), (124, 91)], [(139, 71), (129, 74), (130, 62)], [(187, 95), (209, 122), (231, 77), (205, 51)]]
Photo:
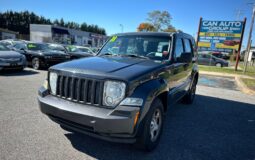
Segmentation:
[(195, 78), (190, 86), (188, 93), (183, 97), (184, 104), (192, 104), (196, 97), (197, 79)]

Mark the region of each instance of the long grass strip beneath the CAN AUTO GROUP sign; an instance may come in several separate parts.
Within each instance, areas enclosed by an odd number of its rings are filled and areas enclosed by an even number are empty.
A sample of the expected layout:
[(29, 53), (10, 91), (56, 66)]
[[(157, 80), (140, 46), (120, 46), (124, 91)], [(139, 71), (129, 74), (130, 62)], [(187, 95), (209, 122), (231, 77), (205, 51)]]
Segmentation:
[(247, 68), (247, 72), (243, 74), (242, 67), (241, 69), (238, 69), (235, 71), (234, 68), (232, 67), (216, 67), (216, 66), (204, 66), (204, 65), (199, 65), (199, 70), (200, 71), (207, 71), (207, 72), (219, 72), (219, 73), (226, 73), (226, 74), (238, 74), (238, 75), (247, 75), (251, 77), (255, 77), (255, 66), (249, 66)]

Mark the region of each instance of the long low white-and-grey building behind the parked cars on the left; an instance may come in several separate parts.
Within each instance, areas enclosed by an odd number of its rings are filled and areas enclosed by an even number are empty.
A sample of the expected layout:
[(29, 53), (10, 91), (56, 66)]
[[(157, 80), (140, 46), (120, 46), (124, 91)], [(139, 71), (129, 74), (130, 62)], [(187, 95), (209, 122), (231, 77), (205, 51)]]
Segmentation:
[(30, 24), (30, 40), (101, 47), (107, 36), (55, 25)]

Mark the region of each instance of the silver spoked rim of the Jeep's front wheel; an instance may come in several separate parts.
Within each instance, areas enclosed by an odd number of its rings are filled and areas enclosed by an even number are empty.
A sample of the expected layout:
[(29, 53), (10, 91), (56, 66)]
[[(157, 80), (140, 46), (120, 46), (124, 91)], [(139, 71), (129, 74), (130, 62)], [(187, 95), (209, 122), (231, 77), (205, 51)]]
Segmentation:
[(152, 142), (154, 142), (158, 138), (161, 123), (162, 123), (161, 112), (159, 109), (156, 109), (155, 112), (153, 113), (150, 124), (150, 136)]

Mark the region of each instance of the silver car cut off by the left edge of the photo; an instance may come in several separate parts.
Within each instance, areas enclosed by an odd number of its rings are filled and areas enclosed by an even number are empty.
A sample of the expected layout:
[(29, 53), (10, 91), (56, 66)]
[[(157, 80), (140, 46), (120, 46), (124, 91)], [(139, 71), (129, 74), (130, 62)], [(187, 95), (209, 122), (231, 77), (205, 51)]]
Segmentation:
[(18, 52), (11, 51), (0, 44), (0, 70), (23, 70), (27, 65), (26, 57)]

